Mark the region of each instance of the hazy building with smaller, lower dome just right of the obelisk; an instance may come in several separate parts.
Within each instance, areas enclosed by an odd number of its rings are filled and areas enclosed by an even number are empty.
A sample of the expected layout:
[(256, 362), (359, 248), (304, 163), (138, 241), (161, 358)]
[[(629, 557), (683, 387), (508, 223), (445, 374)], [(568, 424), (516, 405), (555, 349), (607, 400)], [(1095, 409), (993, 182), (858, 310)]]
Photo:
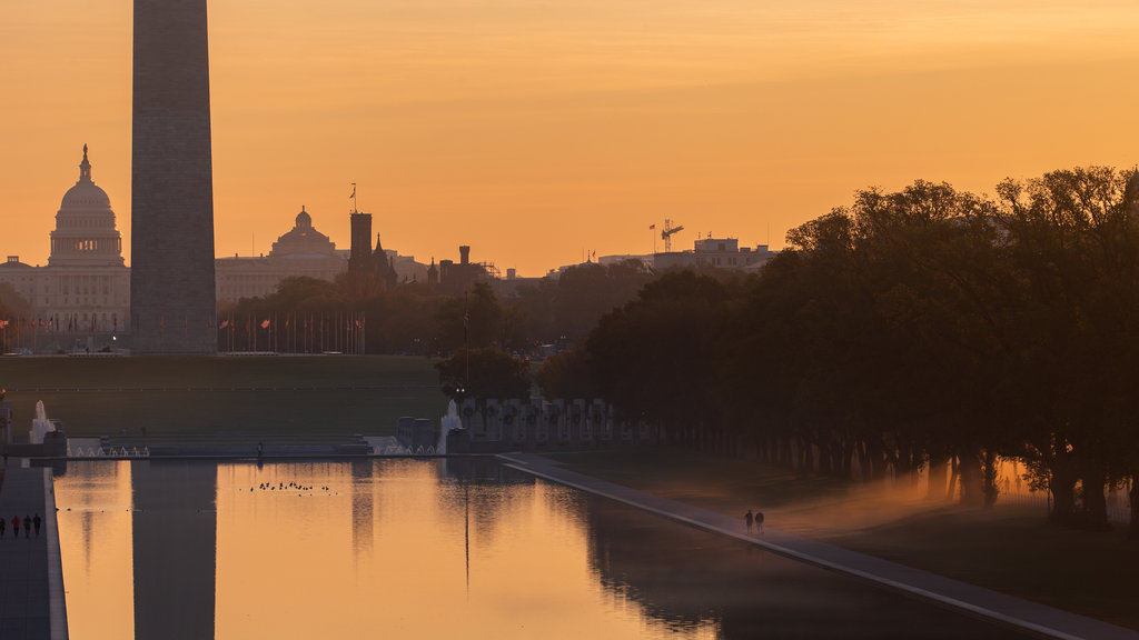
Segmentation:
[(337, 251), (328, 236), (317, 231), (312, 216), (301, 207), (293, 229), (277, 238), (268, 256), (220, 257), (218, 301), (265, 297), (287, 278), (308, 277), (333, 281), (349, 268), (349, 256)]

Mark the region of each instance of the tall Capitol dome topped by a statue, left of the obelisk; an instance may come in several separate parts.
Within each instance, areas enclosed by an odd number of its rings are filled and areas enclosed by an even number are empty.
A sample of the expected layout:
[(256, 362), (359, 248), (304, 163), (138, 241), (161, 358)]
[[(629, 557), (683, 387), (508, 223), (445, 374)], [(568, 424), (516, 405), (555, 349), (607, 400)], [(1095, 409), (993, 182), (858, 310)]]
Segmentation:
[(91, 181), (91, 163), (83, 145), (79, 181), (64, 194), (51, 232), (49, 265), (121, 265), (122, 236), (107, 192)]

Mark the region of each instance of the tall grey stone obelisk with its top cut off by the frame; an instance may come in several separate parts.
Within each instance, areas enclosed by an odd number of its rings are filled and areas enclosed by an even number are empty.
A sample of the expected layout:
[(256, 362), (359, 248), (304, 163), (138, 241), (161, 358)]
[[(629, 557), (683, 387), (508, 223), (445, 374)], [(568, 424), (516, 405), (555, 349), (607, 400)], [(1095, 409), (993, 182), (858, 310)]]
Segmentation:
[(218, 351), (206, 0), (134, 0), (133, 353)]

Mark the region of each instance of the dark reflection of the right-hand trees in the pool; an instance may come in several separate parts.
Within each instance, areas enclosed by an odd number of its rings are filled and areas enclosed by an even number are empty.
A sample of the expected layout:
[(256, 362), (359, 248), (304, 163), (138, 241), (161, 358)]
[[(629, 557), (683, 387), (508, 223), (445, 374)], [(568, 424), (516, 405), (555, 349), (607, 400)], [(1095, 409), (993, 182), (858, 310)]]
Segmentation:
[(590, 498), (587, 514), (589, 561), (601, 585), (672, 629), (714, 624), (728, 640), (1017, 637), (609, 500)]

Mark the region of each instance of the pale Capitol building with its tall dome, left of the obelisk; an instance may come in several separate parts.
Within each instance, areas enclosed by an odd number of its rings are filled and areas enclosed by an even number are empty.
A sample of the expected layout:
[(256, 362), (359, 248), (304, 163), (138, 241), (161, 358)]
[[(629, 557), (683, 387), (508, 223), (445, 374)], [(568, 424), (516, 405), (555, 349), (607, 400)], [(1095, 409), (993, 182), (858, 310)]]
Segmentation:
[[(130, 333), (130, 270), (123, 264), (122, 235), (115, 227), (110, 198), (91, 180), (83, 147), (79, 181), (67, 190), (47, 266), (31, 266), (9, 255), (0, 264), (0, 281), (10, 284), (28, 303), (21, 325), (22, 346), (74, 348), (95, 346), (97, 336)], [(10, 335), (10, 334), (9, 334)], [(103, 340), (99, 340), (103, 344)]]

